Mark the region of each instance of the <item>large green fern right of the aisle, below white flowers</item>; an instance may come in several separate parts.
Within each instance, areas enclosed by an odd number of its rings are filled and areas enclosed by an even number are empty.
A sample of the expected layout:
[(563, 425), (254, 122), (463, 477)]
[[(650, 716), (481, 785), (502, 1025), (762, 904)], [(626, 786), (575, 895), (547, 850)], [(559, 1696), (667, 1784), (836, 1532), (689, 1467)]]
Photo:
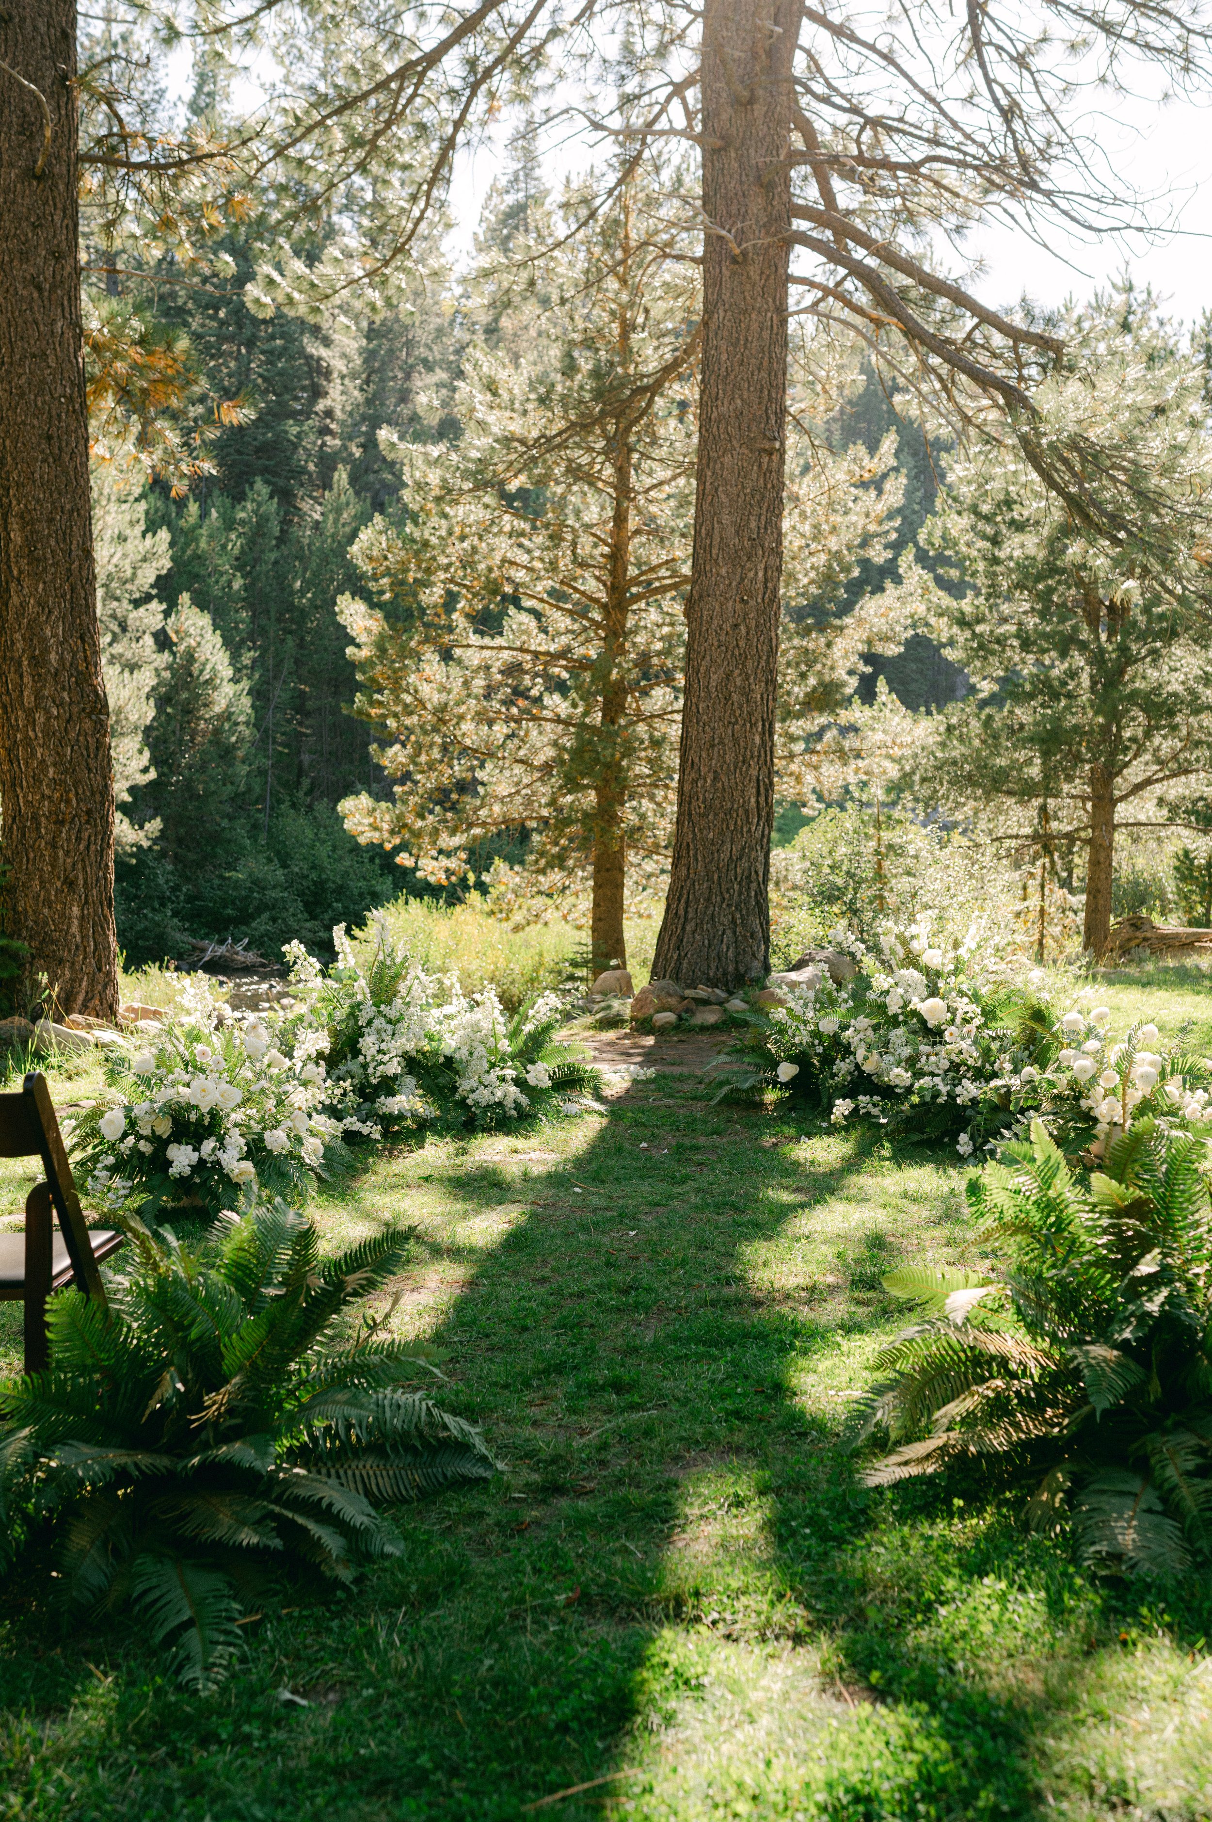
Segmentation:
[(1174, 1572), (1212, 1551), (1212, 1217), (1205, 1148), (1141, 1119), (1075, 1177), (1037, 1121), (968, 1193), (1004, 1277), (904, 1270), (924, 1308), (851, 1427), (897, 1445), (868, 1485), (964, 1458), (1030, 1470), (1028, 1518), (1072, 1503), (1090, 1561)]

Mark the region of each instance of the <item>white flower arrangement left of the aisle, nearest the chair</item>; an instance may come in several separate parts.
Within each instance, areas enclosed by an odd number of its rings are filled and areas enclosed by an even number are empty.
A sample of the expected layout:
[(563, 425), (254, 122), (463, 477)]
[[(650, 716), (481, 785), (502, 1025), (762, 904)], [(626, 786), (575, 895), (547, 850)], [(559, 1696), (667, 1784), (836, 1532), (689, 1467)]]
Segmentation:
[(108, 1053), (117, 1106), (71, 1135), (89, 1195), (117, 1206), (140, 1192), (144, 1217), (164, 1204), (215, 1215), (257, 1188), (306, 1195), (343, 1130), (326, 1111), (326, 1049), (323, 1026), (233, 1013), (193, 977), (162, 1026)]

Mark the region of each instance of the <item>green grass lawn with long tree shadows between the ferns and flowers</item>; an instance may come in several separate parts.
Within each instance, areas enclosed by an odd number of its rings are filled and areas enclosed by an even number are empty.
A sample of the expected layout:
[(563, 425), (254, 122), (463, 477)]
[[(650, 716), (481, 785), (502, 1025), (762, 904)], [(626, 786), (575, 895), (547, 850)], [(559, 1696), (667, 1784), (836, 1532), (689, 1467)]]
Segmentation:
[[(1190, 973), (1099, 997), (1194, 1013), (1208, 1046)], [(208, 1698), (133, 1629), (11, 1589), (0, 1817), (1212, 1815), (1205, 1581), (1095, 1580), (1004, 1487), (871, 1494), (835, 1447), (899, 1323), (880, 1275), (973, 1259), (968, 1172), (711, 1108), (694, 1075), (614, 1088), (315, 1204), (334, 1248), (414, 1228), (395, 1321), (447, 1348), (445, 1401), (503, 1472), (406, 1512), (406, 1554), (352, 1592), (284, 1589)], [(4, 1306), (9, 1356), (16, 1334)]]

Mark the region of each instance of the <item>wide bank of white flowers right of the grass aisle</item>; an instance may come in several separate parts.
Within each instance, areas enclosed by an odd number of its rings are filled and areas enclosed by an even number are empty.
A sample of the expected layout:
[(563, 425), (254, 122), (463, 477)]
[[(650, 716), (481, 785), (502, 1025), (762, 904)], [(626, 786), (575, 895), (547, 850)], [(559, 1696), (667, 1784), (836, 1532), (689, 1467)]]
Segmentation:
[(1041, 1117), (1068, 1152), (1103, 1155), (1141, 1111), (1168, 1128), (1208, 1119), (1205, 1062), (1157, 1049), (1152, 1024), (1112, 1039), (1106, 1006), (1057, 1013), (1043, 971), (1015, 980), (971, 929), (931, 937), (931, 920), (888, 929), (880, 955), (831, 933), (857, 964), (784, 986), (787, 1004), (747, 1015), (720, 1093), (784, 1088), (835, 1126), (953, 1141), (960, 1157), (991, 1150)]

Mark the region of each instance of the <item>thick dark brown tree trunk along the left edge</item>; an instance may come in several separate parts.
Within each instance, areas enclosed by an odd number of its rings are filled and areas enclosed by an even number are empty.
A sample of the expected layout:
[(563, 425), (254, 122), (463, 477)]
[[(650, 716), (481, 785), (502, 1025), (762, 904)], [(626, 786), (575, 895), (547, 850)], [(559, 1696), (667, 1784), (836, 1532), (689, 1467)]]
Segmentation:
[(27, 944), (31, 977), (46, 977), (58, 1011), (111, 1018), (113, 774), (89, 508), (75, 47), (75, 0), (9, 0), (0, 13), (2, 858), (7, 933)]

